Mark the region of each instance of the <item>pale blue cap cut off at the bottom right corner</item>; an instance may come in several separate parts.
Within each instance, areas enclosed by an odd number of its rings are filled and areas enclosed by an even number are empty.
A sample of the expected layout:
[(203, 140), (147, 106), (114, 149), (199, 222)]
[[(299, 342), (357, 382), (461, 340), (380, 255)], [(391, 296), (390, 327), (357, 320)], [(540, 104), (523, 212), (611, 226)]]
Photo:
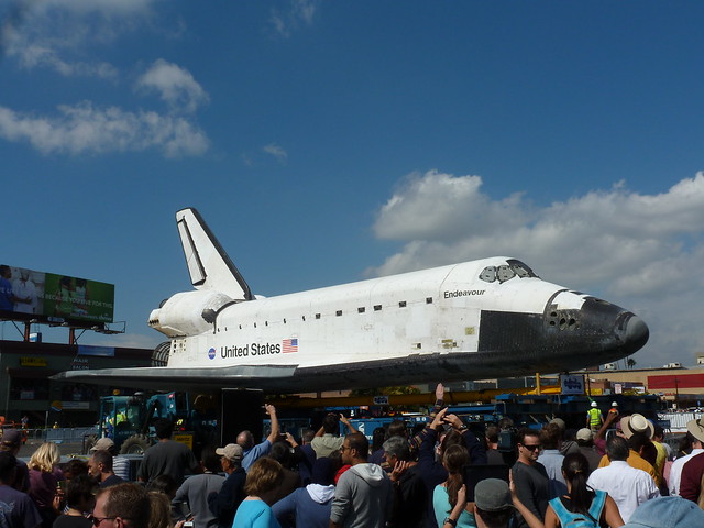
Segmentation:
[(701, 528), (704, 512), (682, 497), (658, 497), (636, 508), (624, 528)]

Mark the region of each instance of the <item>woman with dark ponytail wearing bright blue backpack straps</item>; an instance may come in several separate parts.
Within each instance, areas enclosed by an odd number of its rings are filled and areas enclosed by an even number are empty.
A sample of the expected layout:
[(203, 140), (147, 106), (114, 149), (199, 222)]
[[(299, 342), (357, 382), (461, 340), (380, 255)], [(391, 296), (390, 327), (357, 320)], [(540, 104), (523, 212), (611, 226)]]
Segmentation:
[(594, 491), (586, 485), (590, 463), (582, 453), (568, 454), (562, 461), (562, 475), (568, 494), (556, 497), (548, 504), (546, 528), (566, 526), (575, 518), (602, 528), (618, 528), (624, 520), (618, 506), (606, 492)]

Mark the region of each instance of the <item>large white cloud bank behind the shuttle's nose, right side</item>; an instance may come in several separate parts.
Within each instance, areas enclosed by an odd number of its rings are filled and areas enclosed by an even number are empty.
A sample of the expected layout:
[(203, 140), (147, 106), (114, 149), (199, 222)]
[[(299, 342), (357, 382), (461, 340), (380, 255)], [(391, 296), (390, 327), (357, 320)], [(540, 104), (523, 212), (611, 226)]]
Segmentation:
[(656, 364), (673, 354), (691, 364), (704, 352), (704, 173), (658, 195), (619, 183), (544, 208), (522, 195), (493, 199), (481, 186), (479, 176), (437, 170), (405, 178), (373, 226), (405, 245), (369, 274), (515, 256), (547, 280), (641, 315)]

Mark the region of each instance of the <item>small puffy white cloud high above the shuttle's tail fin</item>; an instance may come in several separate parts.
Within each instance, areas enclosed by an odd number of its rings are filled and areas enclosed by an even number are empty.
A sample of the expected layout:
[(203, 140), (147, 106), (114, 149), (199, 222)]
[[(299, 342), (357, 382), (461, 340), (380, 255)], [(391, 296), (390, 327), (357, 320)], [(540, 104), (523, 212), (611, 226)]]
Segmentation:
[(209, 100), (208, 94), (190, 72), (163, 58), (156, 61), (138, 79), (136, 88), (158, 92), (172, 110), (195, 112)]

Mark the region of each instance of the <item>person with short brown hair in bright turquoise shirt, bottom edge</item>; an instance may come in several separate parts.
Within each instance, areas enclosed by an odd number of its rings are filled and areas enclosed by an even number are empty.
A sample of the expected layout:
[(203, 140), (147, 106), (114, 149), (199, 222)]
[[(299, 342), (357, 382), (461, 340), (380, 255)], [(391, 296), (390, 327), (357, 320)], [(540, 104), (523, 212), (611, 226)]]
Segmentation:
[(234, 516), (238, 528), (280, 528), (272, 513), (271, 503), (277, 487), (284, 480), (284, 469), (274, 459), (262, 458), (254, 462), (246, 473), (244, 493)]

